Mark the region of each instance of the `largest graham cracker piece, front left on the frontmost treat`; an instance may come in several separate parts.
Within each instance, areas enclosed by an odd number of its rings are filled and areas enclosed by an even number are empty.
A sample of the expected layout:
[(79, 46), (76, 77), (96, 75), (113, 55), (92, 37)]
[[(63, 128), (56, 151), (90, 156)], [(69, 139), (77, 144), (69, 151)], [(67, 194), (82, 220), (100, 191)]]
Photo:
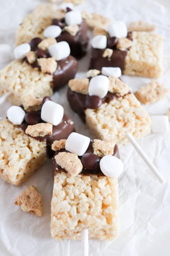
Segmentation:
[(64, 168), (71, 176), (76, 176), (83, 169), (81, 160), (76, 154), (59, 152), (55, 159), (57, 164)]

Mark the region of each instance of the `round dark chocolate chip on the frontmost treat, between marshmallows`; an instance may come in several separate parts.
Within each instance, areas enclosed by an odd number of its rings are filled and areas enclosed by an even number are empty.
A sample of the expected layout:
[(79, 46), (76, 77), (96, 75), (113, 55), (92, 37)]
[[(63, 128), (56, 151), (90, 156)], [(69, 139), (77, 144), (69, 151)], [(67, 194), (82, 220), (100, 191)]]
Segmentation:
[(99, 167), (100, 157), (93, 153), (87, 153), (82, 156), (81, 161), (84, 168), (94, 170)]

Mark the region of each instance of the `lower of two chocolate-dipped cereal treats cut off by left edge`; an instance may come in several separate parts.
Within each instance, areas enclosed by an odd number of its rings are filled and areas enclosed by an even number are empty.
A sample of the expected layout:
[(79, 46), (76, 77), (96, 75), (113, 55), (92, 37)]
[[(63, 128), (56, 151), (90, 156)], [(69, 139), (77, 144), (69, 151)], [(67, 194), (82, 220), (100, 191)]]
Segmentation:
[[(47, 100), (52, 104), (51, 107), (48, 106)], [(7, 118), (0, 123), (2, 179), (14, 185), (24, 182), (34, 170), (53, 157), (53, 141), (56, 138), (67, 138), (74, 131), (72, 120), (69, 116), (60, 114), (63, 113), (62, 106), (56, 111), (56, 105), (60, 106), (50, 101), (49, 97), (37, 99), (28, 95), (23, 99), (22, 108), (12, 106), (8, 109)], [(45, 114), (50, 118), (48, 121), (42, 116), (44, 111), (47, 111)], [(53, 115), (57, 116), (56, 120), (59, 118), (58, 123), (54, 125)]]

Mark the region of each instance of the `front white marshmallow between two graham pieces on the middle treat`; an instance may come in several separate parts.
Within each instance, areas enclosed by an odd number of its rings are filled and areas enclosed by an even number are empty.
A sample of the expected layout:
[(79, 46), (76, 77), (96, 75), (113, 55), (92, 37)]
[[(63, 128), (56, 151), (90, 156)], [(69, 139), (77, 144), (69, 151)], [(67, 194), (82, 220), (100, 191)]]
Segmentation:
[(106, 76), (96, 76), (91, 78), (89, 87), (88, 87), (88, 94), (99, 96), (100, 98), (104, 98), (108, 93), (109, 89), (109, 78)]

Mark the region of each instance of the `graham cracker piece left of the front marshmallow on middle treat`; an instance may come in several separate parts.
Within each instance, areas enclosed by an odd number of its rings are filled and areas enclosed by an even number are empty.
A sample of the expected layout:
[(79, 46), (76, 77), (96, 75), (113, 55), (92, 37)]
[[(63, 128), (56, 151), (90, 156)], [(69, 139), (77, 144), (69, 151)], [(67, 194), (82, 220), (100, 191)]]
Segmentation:
[(88, 78), (75, 78), (69, 81), (69, 87), (72, 91), (88, 94), (89, 79)]

